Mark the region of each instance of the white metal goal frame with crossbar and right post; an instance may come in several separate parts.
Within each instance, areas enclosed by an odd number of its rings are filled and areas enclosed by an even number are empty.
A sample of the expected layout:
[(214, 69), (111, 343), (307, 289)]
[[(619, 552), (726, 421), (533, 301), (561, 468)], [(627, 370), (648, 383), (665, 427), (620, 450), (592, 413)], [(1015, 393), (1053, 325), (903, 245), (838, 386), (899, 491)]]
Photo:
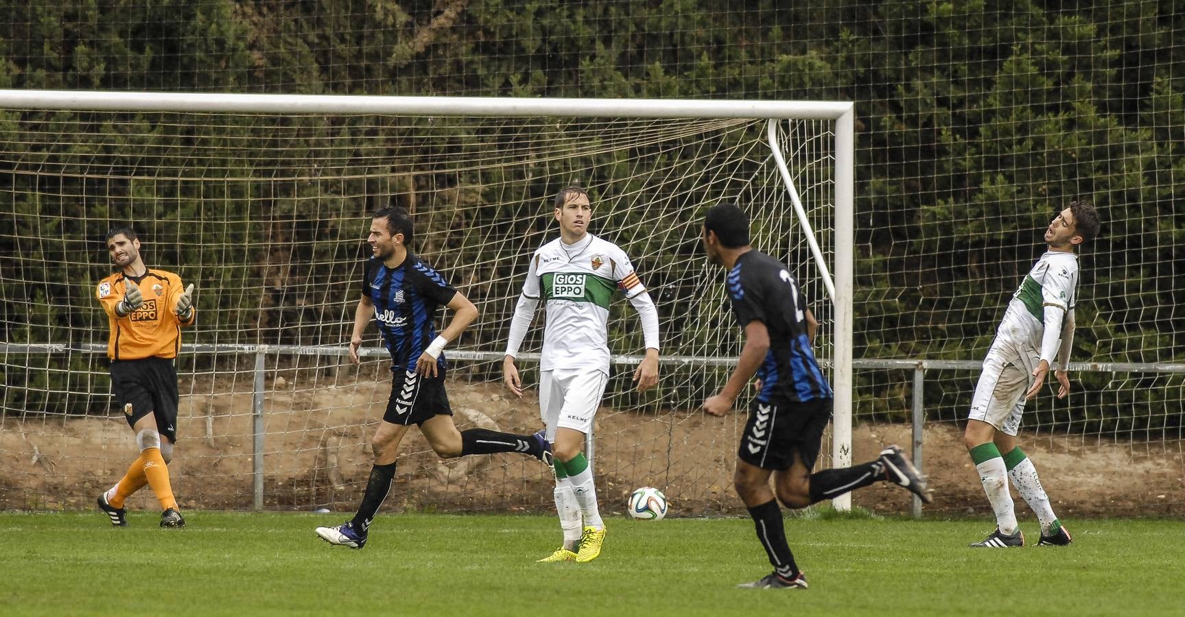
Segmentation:
[[(820, 101), (709, 101), (645, 98), (481, 98), (433, 96), (314, 96), (194, 92), (102, 92), (0, 90), (0, 108), (75, 111), (166, 111), (236, 114), (386, 114), (418, 116), (555, 116), (630, 118), (754, 118), (769, 121), (770, 149), (794, 210), (806, 230), (822, 284), (834, 303), (834, 418), (832, 467), (852, 464), (852, 306), (854, 245), (854, 104)], [(806, 224), (803, 206), (776, 143), (782, 120), (830, 121), (834, 126), (834, 263), (827, 264)], [(833, 281), (827, 274), (833, 275)], [(5, 345), (7, 347), (7, 343)], [(454, 354), (456, 355), (456, 354)], [(736, 359), (720, 359), (735, 362)], [(827, 361), (828, 359), (821, 359)], [(591, 452), (590, 452), (591, 454)], [(258, 480), (257, 480), (258, 484)], [(258, 501), (258, 499), (257, 499)], [(848, 509), (851, 496), (833, 500)]]

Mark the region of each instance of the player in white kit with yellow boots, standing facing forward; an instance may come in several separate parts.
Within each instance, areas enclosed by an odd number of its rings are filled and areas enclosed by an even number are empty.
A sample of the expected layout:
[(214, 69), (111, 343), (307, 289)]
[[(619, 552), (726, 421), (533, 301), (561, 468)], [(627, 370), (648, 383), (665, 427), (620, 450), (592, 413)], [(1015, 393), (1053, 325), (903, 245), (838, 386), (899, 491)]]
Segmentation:
[(564, 544), (539, 561), (591, 561), (601, 554), (604, 522), (596, 503), (584, 437), (592, 430), (609, 379), (609, 302), (620, 289), (642, 322), (646, 356), (634, 371), (638, 391), (658, 384), (659, 315), (626, 253), (588, 232), (592, 206), (583, 188), (556, 194), (559, 238), (531, 257), (531, 268), (511, 321), (502, 378), (523, 396), (514, 356), (543, 298), (546, 326), (539, 361), (539, 414), (552, 443), (556, 509)]

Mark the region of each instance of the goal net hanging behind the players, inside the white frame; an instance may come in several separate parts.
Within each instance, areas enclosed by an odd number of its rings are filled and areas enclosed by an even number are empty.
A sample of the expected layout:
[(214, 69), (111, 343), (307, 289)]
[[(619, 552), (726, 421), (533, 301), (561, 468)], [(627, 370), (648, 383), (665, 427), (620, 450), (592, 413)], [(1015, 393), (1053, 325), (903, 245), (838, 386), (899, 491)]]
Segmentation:
[[(390, 358), (373, 326), (359, 366), (345, 343), (370, 213), (389, 204), (412, 213), (414, 251), (481, 313), (446, 351), (457, 425), (537, 430), (542, 311), (523, 346), (521, 400), (500, 383), (501, 352), (568, 185), (589, 191), (590, 231), (630, 256), (662, 333), (660, 385), (638, 393), (641, 328), (628, 302), (614, 303), (616, 355), (591, 443), (603, 507), (649, 484), (681, 513), (741, 508), (729, 490), (744, 410), (699, 411), (739, 352), (724, 272), (699, 244), (705, 207), (722, 200), (749, 211), (754, 245), (811, 298), (839, 397), (841, 446), (820, 464), (846, 464), (847, 103), (33, 95), (0, 97), (0, 508), (91, 507), (135, 455), (111, 409), (94, 300), (113, 271), (103, 237), (118, 224), (135, 226), (149, 268), (197, 287), (169, 465), (182, 507), (357, 504)], [(551, 507), (550, 473), (533, 458), (442, 462), (417, 431), (401, 451), (391, 512)]]

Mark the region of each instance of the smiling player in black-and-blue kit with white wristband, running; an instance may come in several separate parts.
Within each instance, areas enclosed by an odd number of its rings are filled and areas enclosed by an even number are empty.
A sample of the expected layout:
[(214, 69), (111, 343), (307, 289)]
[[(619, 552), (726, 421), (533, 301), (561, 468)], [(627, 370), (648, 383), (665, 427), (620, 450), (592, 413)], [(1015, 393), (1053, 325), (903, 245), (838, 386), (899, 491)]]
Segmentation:
[[(524, 452), (543, 459), (549, 454), (547, 442), (540, 433), (456, 430), (444, 392), (448, 365), (443, 351), (478, 317), (478, 308), (408, 250), (411, 239), (411, 218), (403, 208), (387, 207), (373, 214), (367, 242), (374, 256), (366, 262), (363, 274), (350, 359), (359, 362), (358, 347), (373, 317), (391, 353), (391, 397), (371, 439), (374, 467), (358, 513), (344, 525), (316, 528), (316, 534), (332, 545), (351, 548), (366, 545), (371, 520), (395, 478), (399, 442), (412, 424), (419, 426), (441, 458)], [(454, 315), (437, 335), (434, 321), (442, 306)]]

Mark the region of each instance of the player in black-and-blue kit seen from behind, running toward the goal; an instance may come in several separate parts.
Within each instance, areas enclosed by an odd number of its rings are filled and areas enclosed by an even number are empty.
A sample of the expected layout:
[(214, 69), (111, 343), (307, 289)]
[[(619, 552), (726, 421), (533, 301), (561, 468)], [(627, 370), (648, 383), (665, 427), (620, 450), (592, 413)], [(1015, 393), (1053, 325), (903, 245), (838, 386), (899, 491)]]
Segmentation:
[(749, 407), (732, 480), (774, 572), (738, 586), (807, 589), (786, 542), (779, 500), (788, 508), (805, 508), (882, 480), (925, 502), (930, 491), (896, 445), (869, 463), (812, 473), (834, 396), (811, 348), (819, 324), (806, 295), (783, 263), (752, 250), (749, 217), (738, 206), (712, 207), (703, 242), (709, 262), (729, 271), (729, 298), (745, 340), (736, 369), (720, 392), (704, 401), (704, 411), (724, 416), (750, 379), (756, 377), (761, 386)]

